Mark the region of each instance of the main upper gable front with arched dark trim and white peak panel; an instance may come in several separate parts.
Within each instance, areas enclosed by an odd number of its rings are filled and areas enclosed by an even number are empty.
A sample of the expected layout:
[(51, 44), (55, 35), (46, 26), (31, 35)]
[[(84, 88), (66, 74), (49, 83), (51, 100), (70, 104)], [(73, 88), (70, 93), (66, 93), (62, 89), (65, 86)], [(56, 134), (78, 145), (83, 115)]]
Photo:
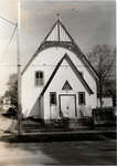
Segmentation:
[(45, 37), (41, 45), (38, 48), (31, 60), (28, 62), (25, 68), (23, 69), (23, 74), (31, 62), (35, 59), (35, 56), (43, 50), (52, 46), (61, 46), (66, 48), (67, 50), (74, 52), (76, 56), (84, 63), (84, 65), (87, 68), (92, 76), (98, 81), (98, 74), (94, 70), (94, 68), (91, 65), (86, 56), (83, 54), (81, 49), (77, 46), (74, 39), (71, 37), (64, 24), (60, 21), (60, 19), (54, 23), (49, 34)]

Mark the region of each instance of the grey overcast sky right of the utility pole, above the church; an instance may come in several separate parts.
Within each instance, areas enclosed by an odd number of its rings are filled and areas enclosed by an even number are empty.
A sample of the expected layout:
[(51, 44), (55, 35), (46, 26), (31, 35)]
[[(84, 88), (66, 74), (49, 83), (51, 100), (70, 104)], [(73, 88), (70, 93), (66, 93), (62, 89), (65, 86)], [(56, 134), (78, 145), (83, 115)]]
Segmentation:
[(21, 54), (23, 63), (35, 52), (61, 14), (63, 24), (84, 53), (95, 44), (115, 46), (115, 1), (22, 1)]

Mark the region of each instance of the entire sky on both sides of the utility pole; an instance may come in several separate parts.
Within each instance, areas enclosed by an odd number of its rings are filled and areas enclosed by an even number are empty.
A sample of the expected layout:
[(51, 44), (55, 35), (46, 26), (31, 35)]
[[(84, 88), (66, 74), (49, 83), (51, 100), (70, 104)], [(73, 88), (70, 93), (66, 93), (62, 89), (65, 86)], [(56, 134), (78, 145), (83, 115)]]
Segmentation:
[[(96, 44), (115, 46), (116, 3), (113, 0), (21, 0), (18, 12), (18, 0), (0, 0), (1, 17), (17, 22), (19, 15), (22, 68), (53, 27), (57, 13), (84, 53)], [(9, 75), (17, 72), (17, 35), (3, 54), (13, 30), (13, 25), (0, 19), (0, 94), (7, 89)]]

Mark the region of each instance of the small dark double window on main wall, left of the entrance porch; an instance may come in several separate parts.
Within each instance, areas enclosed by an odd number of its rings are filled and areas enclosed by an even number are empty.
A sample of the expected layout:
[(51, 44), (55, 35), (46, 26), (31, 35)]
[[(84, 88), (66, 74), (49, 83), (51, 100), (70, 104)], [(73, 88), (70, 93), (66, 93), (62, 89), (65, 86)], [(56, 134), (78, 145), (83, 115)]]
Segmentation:
[(44, 73), (42, 71), (35, 72), (35, 86), (41, 86), (44, 84)]

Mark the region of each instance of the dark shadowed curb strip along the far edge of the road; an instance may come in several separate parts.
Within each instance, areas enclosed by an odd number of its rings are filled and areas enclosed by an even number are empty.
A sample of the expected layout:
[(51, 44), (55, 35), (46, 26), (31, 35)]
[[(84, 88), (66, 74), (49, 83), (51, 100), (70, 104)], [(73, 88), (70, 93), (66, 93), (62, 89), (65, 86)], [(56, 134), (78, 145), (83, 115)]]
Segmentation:
[(7, 138), (9, 142), (19, 143), (35, 143), (35, 142), (60, 142), (60, 141), (107, 141), (115, 139), (115, 131), (75, 131), (75, 132), (39, 132), (39, 133), (22, 133), (21, 136), (11, 135)]

